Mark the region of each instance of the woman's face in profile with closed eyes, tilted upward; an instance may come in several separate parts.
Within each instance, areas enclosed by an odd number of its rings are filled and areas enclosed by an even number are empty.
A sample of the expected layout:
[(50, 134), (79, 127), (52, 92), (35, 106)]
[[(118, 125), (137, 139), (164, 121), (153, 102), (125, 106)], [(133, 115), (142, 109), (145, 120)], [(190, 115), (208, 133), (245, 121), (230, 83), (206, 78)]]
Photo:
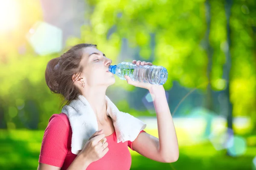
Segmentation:
[(109, 86), (115, 83), (114, 74), (108, 71), (112, 60), (94, 47), (83, 49), (83, 57), (80, 64), (83, 66), (81, 77), (84, 85), (97, 87)]

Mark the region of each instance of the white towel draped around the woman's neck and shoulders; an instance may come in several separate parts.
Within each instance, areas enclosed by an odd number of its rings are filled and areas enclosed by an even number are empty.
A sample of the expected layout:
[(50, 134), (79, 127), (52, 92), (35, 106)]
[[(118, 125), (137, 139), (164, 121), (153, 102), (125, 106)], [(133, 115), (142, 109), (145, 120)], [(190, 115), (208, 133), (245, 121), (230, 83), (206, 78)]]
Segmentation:
[[(106, 95), (107, 115), (111, 117), (116, 131), (117, 143), (131, 141), (133, 142), (141, 130), (144, 130), (146, 124), (140, 119), (124, 113), (116, 108), (116, 105)], [(70, 121), (72, 129), (71, 152), (78, 154), (84, 144), (88, 141), (98, 129), (98, 122), (93, 109), (83, 95), (78, 99), (65, 105), (62, 110)]]

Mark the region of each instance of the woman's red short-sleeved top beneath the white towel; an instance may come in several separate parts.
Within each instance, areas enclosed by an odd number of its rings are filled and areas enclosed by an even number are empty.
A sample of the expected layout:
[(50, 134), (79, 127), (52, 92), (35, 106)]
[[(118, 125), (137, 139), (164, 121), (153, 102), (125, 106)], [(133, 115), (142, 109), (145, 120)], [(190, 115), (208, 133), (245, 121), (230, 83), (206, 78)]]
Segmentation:
[[(141, 132), (145, 131), (141, 130)], [(64, 113), (53, 114), (44, 131), (38, 162), (66, 170), (77, 156), (71, 152), (71, 137), (72, 129), (67, 115)], [(132, 142), (117, 143), (115, 131), (106, 138), (108, 153), (102, 159), (92, 162), (86, 170), (129, 170), (131, 153), (128, 147), (133, 150)]]

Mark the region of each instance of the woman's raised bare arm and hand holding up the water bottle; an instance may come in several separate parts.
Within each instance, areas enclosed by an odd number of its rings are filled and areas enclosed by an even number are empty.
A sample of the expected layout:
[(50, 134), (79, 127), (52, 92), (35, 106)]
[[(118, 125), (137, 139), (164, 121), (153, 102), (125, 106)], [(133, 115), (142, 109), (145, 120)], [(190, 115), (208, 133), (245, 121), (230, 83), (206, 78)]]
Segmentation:
[[(153, 65), (151, 62), (141, 62), (140, 60), (134, 60), (132, 63), (137, 65)], [(160, 156), (166, 162), (177, 161), (179, 157), (177, 135), (163, 85), (151, 85), (150, 83), (132, 81), (128, 76), (125, 76), (125, 78), (130, 85), (148, 89), (157, 115), (159, 139), (148, 133), (147, 135), (140, 133), (133, 142), (134, 150), (140, 150), (140, 153), (143, 155), (149, 155), (148, 152), (153, 151), (154, 160), (156, 160), (155, 156)]]

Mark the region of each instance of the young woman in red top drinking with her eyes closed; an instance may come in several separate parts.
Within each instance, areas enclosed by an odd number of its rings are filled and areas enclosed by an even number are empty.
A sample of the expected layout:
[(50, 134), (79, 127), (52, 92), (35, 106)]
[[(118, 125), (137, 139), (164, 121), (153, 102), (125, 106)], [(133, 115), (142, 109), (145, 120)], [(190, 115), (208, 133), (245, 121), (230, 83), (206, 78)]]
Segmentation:
[[(67, 52), (51, 59), (45, 71), (49, 89), (61, 94), (67, 105), (83, 95), (96, 115), (99, 129), (84, 145), (78, 155), (71, 153), (72, 130), (64, 113), (53, 114), (44, 132), (38, 170), (129, 170), (131, 154), (128, 150), (160, 162), (177, 161), (177, 136), (162, 85), (135, 82), (125, 77), (128, 84), (146, 88), (154, 96), (159, 139), (141, 130), (131, 142), (116, 142), (111, 117), (106, 114), (105, 95), (108, 86), (115, 83), (114, 74), (108, 71), (112, 60), (93, 44), (78, 44)], [(137, 65), (151, 62), (134, 60)]]

